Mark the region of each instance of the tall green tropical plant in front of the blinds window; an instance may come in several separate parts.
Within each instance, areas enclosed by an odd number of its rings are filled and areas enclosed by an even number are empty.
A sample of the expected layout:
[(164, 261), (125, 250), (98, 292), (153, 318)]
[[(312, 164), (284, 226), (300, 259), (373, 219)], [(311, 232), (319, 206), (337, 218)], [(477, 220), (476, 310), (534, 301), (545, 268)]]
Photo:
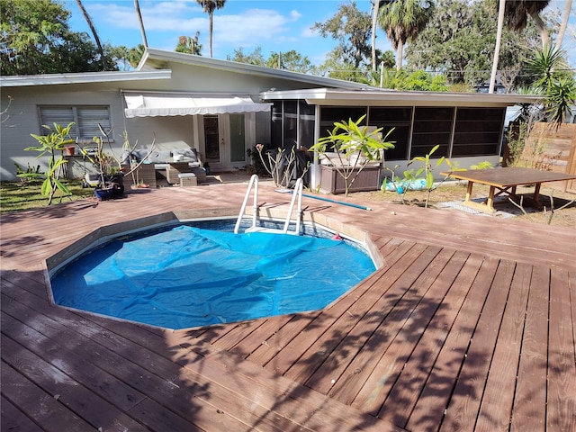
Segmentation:
[[(40, 192), (43, 196), (48, 196), (48, 205), (52, 203), (54, 193), (59, 190), (66, 195), (70, 195), (70, 191), (67, 186), (60, 181), (61, 166), (67, 163), (67, 161), (62, 157), (62, 151), (64, 148), (75, 142), (74, 139), (70, 137), (70, 130), (74, 126), (74, 122), (68, 123), (67, 127), (62, 127), (58, 123), (53, 124), (53, 128), (47, 125), (42, 127), (49, 130), (47, 135), (35, 135), (31, 133), (31, 137), (36, 139), (39, 146), (32, 146), (24, 148), (27, 151), (38, 151), (39, 155), (37, 157), (42, 157), (48, 155), (48, 171), (44, 174), (45, 179), (40, 187)], [(58, 152), (60, 155), (58, 157)]]

